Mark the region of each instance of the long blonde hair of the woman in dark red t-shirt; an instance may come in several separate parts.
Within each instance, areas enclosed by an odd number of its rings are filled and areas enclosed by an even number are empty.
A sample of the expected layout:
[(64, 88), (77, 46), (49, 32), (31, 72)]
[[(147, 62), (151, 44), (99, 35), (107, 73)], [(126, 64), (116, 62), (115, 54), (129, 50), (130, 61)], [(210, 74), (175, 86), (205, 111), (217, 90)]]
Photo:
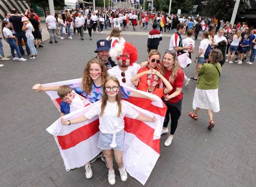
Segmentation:
[[(167, 79), (170, 83), (173, 83), (174, 82), (174, 78), (177, 76), (178, 70), (180, 69), (180, 65), (178, 63), (178, 59), (177, 59), (177, 56), (176, 56), (175, 52), (170, 52), (170, 51), (169, 52), (165, 52), (164, 56), (167, 53), (172, 55), (173, 60), (174, 60), (174, 64), (172, 65), (172, 69), (171, 69), (171, 76), (170, 76), (169, 80)], [(164, 56), (163, 56), (163, 59), (162, 59), (162, 65), (160, 66), (160, 70), (159, 70), (160, 74), (162, 74), (163, 76), (165, 75), (166, 70), (167, 70), (167, 68), (164, 67), (164, 65), (163, 65)]]

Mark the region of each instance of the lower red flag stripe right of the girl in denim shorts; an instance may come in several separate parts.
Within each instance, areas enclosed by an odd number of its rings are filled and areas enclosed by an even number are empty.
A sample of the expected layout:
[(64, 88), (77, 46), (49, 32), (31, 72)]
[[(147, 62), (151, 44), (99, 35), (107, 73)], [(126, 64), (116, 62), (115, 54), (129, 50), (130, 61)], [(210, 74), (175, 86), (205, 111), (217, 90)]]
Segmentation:
[(158, 154), (160, 154), (160, 139), (153, 141), (154, 130), (147, 124), (139, 121), (137, 119), (132, 119), (129, 117), (124, 117), (124, 130), (127, 133), (132, 133), (136, 135), (140, 141), (144, 142), (146, 145), (154, 149)]

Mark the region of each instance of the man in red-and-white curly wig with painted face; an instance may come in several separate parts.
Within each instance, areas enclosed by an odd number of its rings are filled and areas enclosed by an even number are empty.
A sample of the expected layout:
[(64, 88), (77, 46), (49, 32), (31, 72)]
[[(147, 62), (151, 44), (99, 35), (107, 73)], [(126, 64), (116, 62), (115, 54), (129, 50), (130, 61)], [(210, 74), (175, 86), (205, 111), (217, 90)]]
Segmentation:
[(110, 76), (115, 76), (121, 84), (135, 88), (130, 80), (137, 74), (140, 65), (136, 63), (138, 59), (138, 52), (135, 46), (131, 43), (116, 44), (109, 52), (112, 60), (118, 64), (108, 70)]

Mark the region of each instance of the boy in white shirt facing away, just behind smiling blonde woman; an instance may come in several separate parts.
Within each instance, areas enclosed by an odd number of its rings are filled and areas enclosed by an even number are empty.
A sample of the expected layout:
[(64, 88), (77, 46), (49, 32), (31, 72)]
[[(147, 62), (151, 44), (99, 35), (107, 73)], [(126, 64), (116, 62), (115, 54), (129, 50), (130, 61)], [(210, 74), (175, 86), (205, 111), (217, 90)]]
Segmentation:
[[(191, 59), (191, 53), (194, 53), (195, 50), (195, 41), (191, 38), (192, 34), (193, 34), (193, 30), (192, 29), (188, 29), (187, 30), (187, 38), (185, 38), (184, 40), (182, 40), (182, 46), (190, 46), (190, 48), (188, 50), (183, 50), (183, 52), (188, 52), (189, 54), (189, 58)], [(188, 64), (189, 66), (190, 64)], [(186, 77), (186, 75), (184, 74), (184, 80), (185, 80), (185, 87), (188, 86), (190, 79)]]

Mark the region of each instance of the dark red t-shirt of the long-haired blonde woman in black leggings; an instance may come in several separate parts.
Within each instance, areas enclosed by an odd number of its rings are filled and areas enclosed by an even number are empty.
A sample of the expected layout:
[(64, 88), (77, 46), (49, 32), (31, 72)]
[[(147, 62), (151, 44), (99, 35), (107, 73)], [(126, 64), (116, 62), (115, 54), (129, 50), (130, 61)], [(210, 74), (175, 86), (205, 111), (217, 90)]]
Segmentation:
[[(166, 73), (164, 75), (164, 77), (169, 81), (170, 80), (170, 75), (171, 75), (171, 71), (170, 70), (166, 70)], [(184, 82), (184, 73), (181, 69), (178, 70), (176, 77), (174, 78), (174, 82), (171, 83), (172, 85), (172, 91), (170, 93), (168, 93), (168, 95), (171, 95), (172, 93), (174, 93), (176, 91), (176, 88), (182, 88), (183, 87), (183, 82)], [(164, 87), (166, 87), (164, 85)], [(182, 99), (183, 94), (182, 92), (180, 92), (179, 95), (177, 95), (176, 97), (173, 97), (172, 99), (170, 99), (169, 103), (177, 103), (180, 99)]]

